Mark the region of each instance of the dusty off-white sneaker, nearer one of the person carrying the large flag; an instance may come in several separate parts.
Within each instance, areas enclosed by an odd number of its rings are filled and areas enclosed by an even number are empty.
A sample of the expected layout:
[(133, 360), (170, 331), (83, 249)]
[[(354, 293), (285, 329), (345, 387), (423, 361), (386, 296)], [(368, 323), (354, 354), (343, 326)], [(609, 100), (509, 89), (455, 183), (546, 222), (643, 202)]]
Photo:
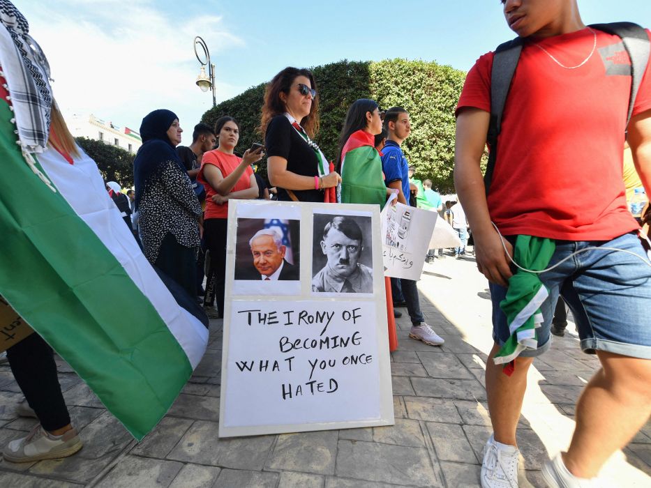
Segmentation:
[(2, 455), (7, 461), (24, 463), (39, 459), (68, 457), (81, 448), (82, 441), (75, 429), (70, 429), (60, 436), (53, 436), (38, 424), (31, 429), (27, 437), (8, 443)]

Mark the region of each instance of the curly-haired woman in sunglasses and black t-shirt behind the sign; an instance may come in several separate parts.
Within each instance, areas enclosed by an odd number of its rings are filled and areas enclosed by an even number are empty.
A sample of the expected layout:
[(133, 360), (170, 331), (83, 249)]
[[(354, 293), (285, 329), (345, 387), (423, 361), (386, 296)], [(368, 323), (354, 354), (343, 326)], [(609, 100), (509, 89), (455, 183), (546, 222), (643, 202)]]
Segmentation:
[(312, 73), (285, 68), (267, 85), (260, 129), (265, 133), (269, 183), (280, 201), (325, 201), (341, 181), (311, 137), (319, 129), (319, 100)]

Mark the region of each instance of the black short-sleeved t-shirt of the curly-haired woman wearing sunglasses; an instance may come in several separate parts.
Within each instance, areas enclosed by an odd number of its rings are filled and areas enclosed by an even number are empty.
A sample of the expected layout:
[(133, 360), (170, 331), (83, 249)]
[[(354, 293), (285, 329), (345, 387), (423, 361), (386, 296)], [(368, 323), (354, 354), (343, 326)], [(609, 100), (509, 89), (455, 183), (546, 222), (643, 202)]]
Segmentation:
[[(280, 156), (287, 160), (287, 171), (301, 176), (319, 176), (319, 160), (314, 149), (292, 127), (285, 115), (276, 115), (269, 125), (264, 137), (267, 157)], [(300, 201), (323, 201), (323, 190), (293, 190)], [(278, 187), (278, 200), (291, 201), (283, 188)]]

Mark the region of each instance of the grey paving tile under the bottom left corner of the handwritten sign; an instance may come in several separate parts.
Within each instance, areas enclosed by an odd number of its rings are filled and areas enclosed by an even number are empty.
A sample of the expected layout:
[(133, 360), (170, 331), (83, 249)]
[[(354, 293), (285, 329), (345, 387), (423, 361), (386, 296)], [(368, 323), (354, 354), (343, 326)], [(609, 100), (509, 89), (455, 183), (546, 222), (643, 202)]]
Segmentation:
[(167, 459), (234, 469), (262, 469), (274, 436), (219, 439), (218, 429), (217, 422), (197, 420)]

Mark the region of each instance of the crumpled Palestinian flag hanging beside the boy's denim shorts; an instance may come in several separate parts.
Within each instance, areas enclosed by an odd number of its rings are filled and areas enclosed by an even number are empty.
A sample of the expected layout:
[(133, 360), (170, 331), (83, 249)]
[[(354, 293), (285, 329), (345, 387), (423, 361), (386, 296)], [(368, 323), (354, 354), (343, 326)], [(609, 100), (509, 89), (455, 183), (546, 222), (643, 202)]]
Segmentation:
[[(555, 249), (553, 239), (521, 235), (516, 239), (514, 260), (523, 268), (540, 271), (549, 265)], [(525, 349), (537, 349), (536, 329), (543, 322), (540, 306), (548, 295), (537, 273), (518, 268), (509, 278), (507, 296), (500, 307), (507, 316), (511, 337), (495, 355), (495, 364), (511, 363)], [(513, 372), (512, 367), (505, 372)]]

